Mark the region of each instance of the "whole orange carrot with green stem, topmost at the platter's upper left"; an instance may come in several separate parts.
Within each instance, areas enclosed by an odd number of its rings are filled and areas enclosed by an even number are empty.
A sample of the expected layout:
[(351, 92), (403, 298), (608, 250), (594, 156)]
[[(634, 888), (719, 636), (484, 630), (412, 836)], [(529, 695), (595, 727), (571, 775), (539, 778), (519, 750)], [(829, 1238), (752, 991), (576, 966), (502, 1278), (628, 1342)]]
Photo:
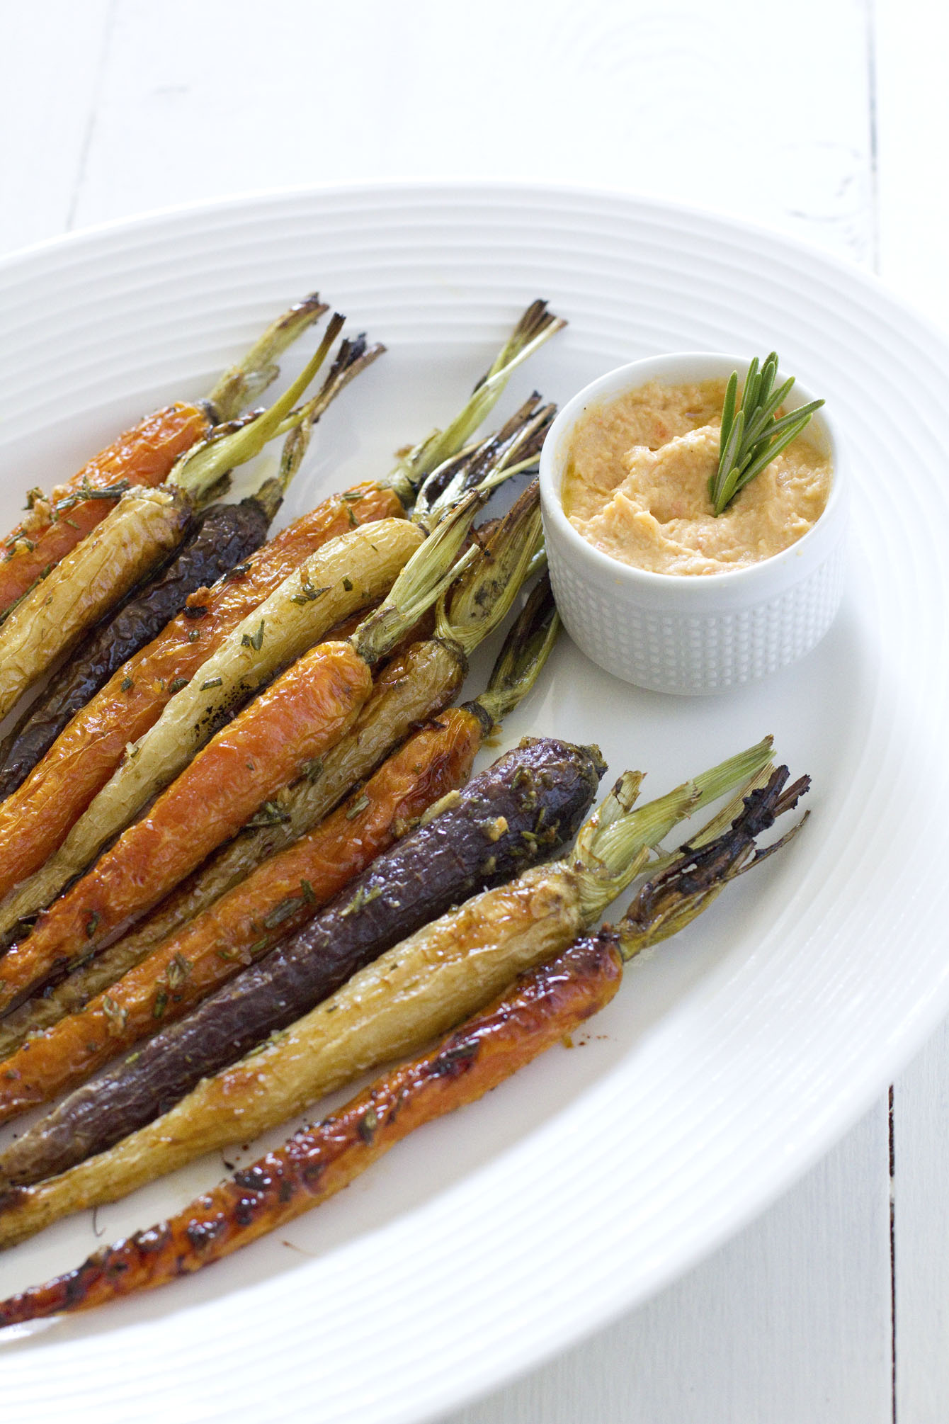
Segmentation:
[(216, 422), (230, 420), (255, 399), (277, 375), (275, 357), (326, 310), (316, 293), (299, 302), (222, 376), (208, 402), (175, 402), (145, 416), (57, 486), (48, 500), (41, 490), (31, 490), (26, 520), (0, 545), (0, 614), (46, 578), (127, 488), (161, 484), (179, 456), (206, 437)]

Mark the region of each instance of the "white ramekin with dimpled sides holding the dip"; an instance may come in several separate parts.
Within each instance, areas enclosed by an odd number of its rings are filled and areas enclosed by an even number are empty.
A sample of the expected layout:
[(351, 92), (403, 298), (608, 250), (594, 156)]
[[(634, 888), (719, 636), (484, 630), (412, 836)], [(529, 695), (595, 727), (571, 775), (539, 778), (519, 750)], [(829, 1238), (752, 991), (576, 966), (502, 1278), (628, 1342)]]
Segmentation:
[[(667, 384), (741, 379), (748, 360), (677, 352), (632, 362), (585, 386), (561, 410), (541, 453), (541, 507), (553, 594), (566, 631), (617, 678), (654, 692), (724, 692), (801, 658), (824, 637), (844, 588), (847, 471), (824, 409), (807, 439), (829, 454), (834, 483), (808, 533), (760, 564), (723, 574), (653, 574), (593, 548), (571, 524), (561, 497), (573, 426), (590, 406), (660, 380)], [(785, 373), (778, 373), (778, 383)], [(814, 397), (797, 382), (788, 409)]]

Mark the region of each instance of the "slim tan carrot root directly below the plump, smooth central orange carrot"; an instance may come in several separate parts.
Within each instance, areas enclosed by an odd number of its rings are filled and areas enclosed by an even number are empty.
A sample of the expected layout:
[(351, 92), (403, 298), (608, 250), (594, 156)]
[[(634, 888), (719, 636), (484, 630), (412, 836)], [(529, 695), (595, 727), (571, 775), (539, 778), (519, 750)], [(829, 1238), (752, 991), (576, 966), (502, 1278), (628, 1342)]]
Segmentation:
[(448, 706), (464, 676), (465, 661), (457, 648), (437, 638), (411, 644), (383, 669), (350, 731), (319, 765), (277, 792), (262, 813), (128, 934), (0, 1022), (0, 1058), (14, 1052), (31, 1032), (84, 1008), (256, 866), (319, 824), (414, 726)]

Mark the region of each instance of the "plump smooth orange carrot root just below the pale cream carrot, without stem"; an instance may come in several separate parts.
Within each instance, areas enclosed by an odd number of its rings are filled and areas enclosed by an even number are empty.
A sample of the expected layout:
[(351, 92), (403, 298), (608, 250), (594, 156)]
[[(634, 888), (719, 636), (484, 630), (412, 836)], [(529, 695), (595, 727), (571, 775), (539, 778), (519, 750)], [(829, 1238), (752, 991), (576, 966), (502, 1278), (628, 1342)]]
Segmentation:
[(354, 721), (371, 692), (349, 642), (312, 648), (195, 756), (0, 961), (0, 1012), (168, 894)]

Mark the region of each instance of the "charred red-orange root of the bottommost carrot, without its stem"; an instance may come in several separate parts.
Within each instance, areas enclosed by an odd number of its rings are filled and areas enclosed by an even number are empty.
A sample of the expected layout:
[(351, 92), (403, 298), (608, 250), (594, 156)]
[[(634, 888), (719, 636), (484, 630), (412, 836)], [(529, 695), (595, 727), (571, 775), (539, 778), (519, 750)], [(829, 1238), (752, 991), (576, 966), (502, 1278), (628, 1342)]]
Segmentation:
[(435, 1049), (377, 1078), (317, 1126), (235, 1172), (176, 1216), (0, 1303), (0, 1326), (152, 1290), (229, 1256), (349, 1186), (425, 1122), (475, 1102), (616, 994), (616, 936), (578, 940), (518, 978)]

